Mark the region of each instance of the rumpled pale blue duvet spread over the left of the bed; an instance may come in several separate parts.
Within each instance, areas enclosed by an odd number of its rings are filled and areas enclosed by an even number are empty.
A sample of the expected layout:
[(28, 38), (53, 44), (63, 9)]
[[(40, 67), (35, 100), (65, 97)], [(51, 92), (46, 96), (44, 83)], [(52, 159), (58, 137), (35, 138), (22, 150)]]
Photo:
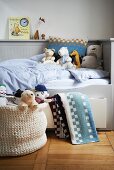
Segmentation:
[(8, 94), (12, 94), (19, 88), (31, 89), (37, 84), (61, 79), (63, 72), (66, 74), (68, 71), (56, 64), (42, 64), (30, 59), (12, 59), (0, 63), (0, 83), (6, 85)]

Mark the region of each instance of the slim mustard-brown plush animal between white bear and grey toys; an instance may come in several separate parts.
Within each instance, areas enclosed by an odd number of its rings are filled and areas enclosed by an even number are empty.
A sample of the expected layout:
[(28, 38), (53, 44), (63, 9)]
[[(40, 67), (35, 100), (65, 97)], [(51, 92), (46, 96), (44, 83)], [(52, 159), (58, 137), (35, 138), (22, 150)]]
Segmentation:
[(80, 67), (81, 67), (81, 64), (80, 64), (80, 56), (79, 56), (78, 51), (74, 50), (74, 51), (70, 54), (70, 56), (71, 56), (71, 57), (75, 56), (74, 64), (76, 65), (77, 68), (80, 68)]

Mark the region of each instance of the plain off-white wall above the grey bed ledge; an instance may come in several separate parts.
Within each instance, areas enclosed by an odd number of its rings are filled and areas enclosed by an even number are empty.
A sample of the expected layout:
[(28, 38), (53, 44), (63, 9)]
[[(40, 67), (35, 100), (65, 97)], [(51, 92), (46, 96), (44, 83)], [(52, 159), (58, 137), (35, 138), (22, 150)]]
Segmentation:
[(114, 0), (0, 0), (0, 39), (8, 39), (9, 16), (29, 16), (32, 35), (45, 17), (40, 33), (46, 38), (114, 37)]

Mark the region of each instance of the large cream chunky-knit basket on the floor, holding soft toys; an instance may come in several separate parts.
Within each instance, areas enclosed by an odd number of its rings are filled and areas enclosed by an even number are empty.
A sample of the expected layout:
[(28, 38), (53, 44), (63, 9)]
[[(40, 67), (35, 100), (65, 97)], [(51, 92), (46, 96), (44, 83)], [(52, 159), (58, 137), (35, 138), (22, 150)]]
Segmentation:
[(40, 149), (47, 141), (46, 127), (44, 112), (0, 107), (0, 156), (25, 155)]

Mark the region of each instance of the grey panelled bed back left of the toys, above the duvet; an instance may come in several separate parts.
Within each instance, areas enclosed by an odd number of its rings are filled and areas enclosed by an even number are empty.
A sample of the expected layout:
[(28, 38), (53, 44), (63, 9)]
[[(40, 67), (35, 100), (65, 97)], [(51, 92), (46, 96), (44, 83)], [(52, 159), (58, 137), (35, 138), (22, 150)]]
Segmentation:
[(48, 41), (0, 41), (0, 61), (14, 58), (29, 58), (43, 53)]

